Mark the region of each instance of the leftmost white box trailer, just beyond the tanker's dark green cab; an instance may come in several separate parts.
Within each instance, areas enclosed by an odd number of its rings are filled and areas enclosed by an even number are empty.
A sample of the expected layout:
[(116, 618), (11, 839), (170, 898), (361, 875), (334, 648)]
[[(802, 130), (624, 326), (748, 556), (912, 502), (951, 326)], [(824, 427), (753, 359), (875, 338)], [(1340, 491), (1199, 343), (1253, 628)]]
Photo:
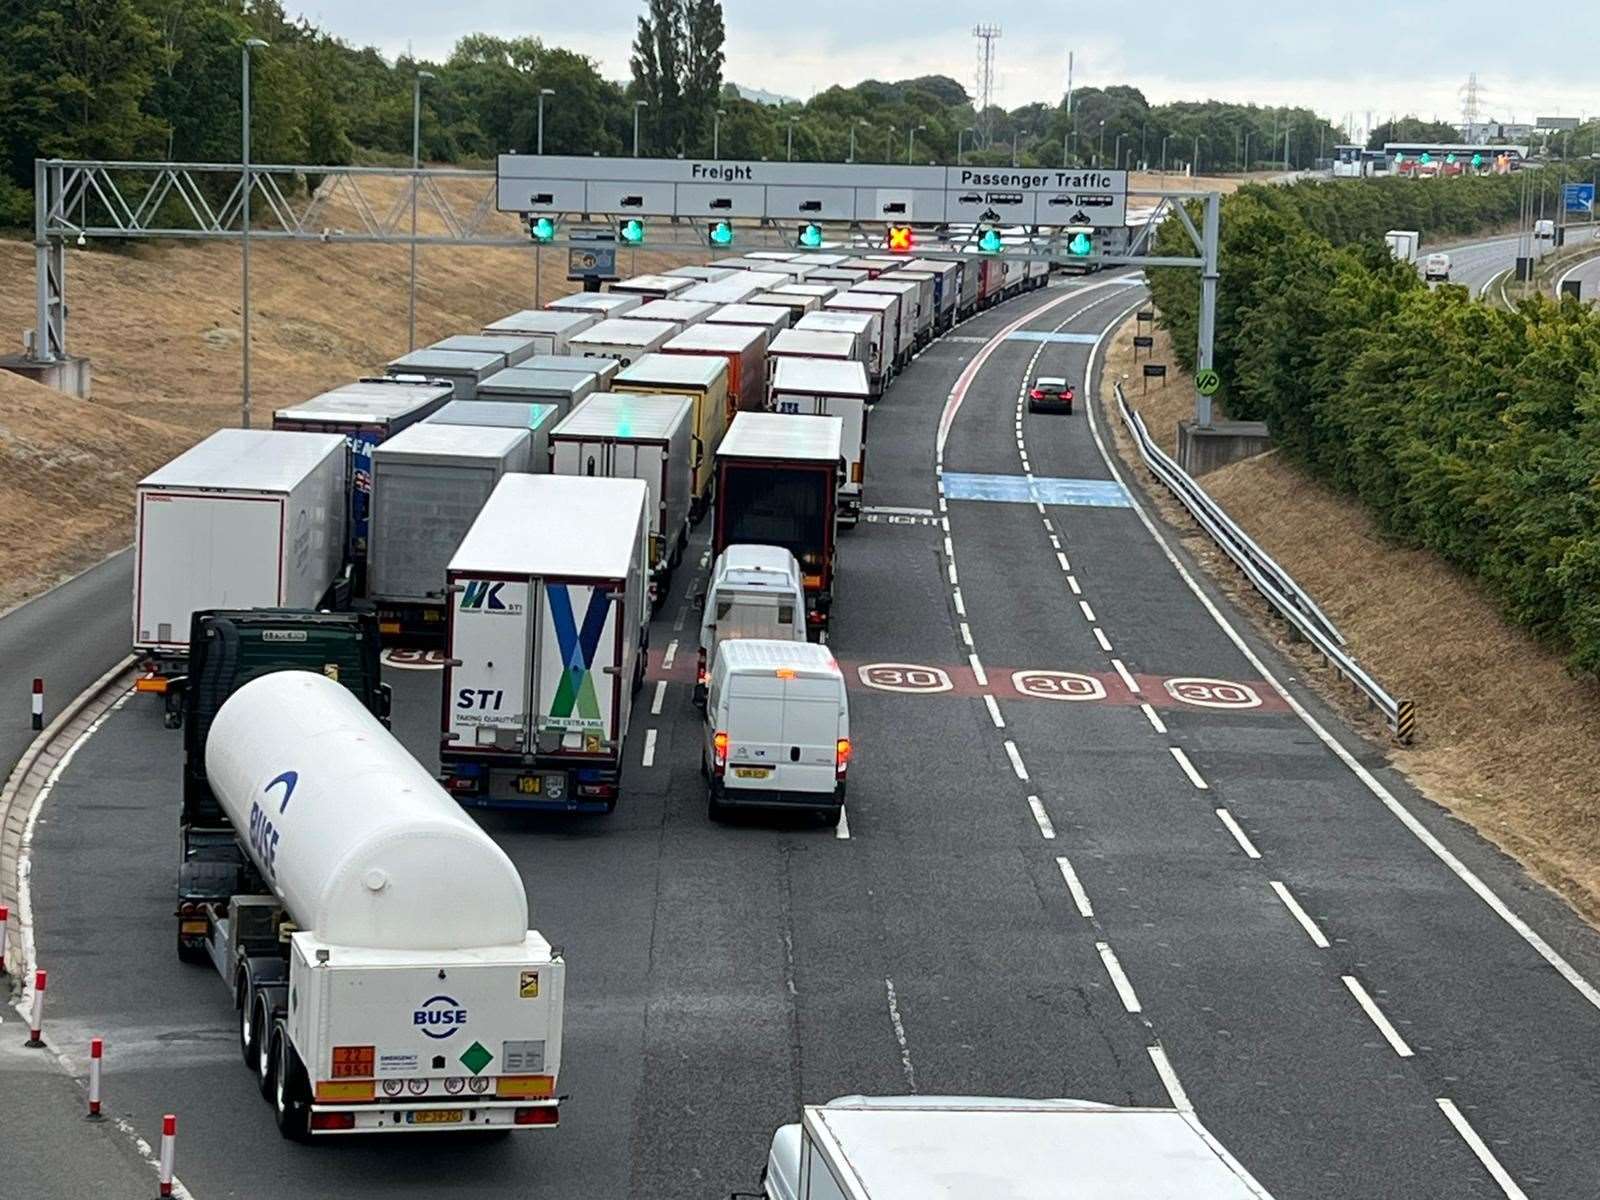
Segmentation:
[(134, 488), (133, 648), (181, 675), (203, 608), (322, 608), (346, 560), (338, 434), (219, 429)]

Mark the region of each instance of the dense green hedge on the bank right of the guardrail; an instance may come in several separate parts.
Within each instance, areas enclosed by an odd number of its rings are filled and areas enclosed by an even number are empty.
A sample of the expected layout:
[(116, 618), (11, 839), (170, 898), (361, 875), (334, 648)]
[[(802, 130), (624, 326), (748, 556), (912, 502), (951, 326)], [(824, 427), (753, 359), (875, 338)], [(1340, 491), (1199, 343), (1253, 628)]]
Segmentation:
[[(1429, 288), (1382, 242), (1390, 227), (1416, 229), (1426, 253), (1514, 221), (1520, 186), (1240, 189), (1222, 211), (1216, 365), (1230, 416), (1266, 421), (1286, 454), (1398, 542), (1477, 578), (1514, 622), (1597, 674), (1600, 312), (1547, 298), (1506, 312), (1466, 288)], [(1176, 232), (1158, 245), (1176, 248)], [(1192, 368), (1195, 278), (1149, 275)]]

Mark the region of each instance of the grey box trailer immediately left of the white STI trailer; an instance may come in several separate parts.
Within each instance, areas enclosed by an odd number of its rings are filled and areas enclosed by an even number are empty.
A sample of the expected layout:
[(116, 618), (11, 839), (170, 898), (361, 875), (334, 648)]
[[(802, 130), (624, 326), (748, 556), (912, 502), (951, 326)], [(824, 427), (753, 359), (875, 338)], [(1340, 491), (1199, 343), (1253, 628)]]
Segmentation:
[(443, 638), (445, 566), (494, 485), (526, 469), (528, 440), (526, 429), (424, 421), (373, 450), (366, 598), (384, 637)]

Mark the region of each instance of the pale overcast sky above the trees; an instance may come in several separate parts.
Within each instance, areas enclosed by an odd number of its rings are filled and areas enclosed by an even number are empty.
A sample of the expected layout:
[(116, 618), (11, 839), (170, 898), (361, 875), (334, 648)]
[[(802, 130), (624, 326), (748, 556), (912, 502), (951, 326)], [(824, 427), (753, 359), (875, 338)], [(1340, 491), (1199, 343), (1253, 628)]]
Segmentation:
[[(294, 0), (288, 5), (296, 6)], [(534, 35), (629, 75), (642, 0), (322, 0), (317, 24), (390, 58), (410, 45), (445, 58), (467, 32)], [(725, 0), (725, 78), (808, 98), (862, 78), (950, 75), (974, 91), (978, 21), (997, 24), (995, 101), (1056, 101), (1067, 51), (1078, 86), (1131, 83), (1155, 102), (1237, 99), (1304, 104), (1342, 123), (1390, 110), (1461, 118), (1478, 74), (1485, 115), (1600, 114), (1600, 5), (1507, 6), (1504, 0)], [(1080, 16), (1082, 14), (1082, 16)], [(1555, 30), (1552, 34), (1552, 29)]]

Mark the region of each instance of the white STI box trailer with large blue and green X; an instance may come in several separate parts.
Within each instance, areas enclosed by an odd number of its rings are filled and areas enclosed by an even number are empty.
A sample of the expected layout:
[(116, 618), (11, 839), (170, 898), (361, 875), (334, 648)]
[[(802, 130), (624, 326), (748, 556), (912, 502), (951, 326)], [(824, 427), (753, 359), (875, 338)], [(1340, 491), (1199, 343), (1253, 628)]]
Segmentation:
[(640, 480), (507, 475), (450, 562), (445, 787), (477, 808), (610, 813), (650, 630)]

